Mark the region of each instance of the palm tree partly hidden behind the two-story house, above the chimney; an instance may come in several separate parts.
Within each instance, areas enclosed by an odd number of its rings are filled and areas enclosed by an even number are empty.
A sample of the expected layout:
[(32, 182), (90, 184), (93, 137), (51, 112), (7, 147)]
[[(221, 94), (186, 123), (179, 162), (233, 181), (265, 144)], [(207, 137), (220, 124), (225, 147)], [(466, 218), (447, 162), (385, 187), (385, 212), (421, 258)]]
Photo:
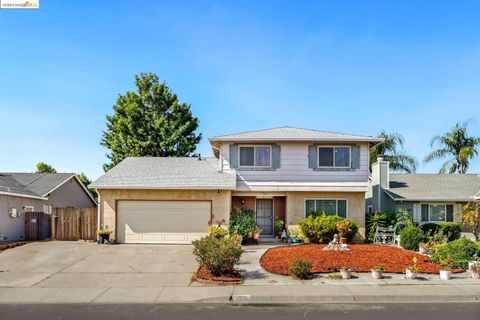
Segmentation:
[(382, 130), (377, 137), (384, 140), (370, 148), (370, 170), (372, 163), (377, 161), (377, 156), (380, 155), (390, 162), (390, 168), (393, 171), (413, 173), (417, 170), (417, 160), (403, 150), (405, 140), (401, 134)]

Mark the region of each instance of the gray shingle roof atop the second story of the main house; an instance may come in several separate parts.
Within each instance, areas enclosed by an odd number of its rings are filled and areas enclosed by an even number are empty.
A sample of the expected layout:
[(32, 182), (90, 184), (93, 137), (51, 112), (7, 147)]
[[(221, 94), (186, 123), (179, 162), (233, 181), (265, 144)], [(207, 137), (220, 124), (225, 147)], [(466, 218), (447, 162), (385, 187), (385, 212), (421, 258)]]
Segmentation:
[(330, 131), (310, 130), (293, 127), (279, 127), (258, 131), (228, 134), (210, 138), (214, 141), (370, 141), (381, 142), (382, 139), (355, 134)]

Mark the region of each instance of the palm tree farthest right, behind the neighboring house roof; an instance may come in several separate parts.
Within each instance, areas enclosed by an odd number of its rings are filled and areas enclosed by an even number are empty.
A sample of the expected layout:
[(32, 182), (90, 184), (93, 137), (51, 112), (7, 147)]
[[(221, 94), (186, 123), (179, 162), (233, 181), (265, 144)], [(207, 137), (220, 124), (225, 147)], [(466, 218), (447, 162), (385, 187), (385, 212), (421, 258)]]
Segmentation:
[(470, 160), (478, 155), (477, 148), (480, 146), (480, 138), (467, 135), (468, 124), (469, 121), (458, 122), (450, 132), (434, 137), (430, 145), (433, 147), (438, 141), (441, 147), (430, 152), (423, 162), (448, 157), (449, 159), (443, 163), (439, 173), (445, 173), (448, 170), (448, 173), (465, 174)]

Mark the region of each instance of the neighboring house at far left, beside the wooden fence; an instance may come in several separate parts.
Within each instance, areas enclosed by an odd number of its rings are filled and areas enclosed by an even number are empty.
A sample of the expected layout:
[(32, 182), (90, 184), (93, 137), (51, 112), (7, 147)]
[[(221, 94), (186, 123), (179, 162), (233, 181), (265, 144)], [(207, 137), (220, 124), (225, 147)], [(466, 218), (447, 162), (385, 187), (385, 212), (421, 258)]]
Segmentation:
[(25, 212), (66, 207), (96, 207), (74, 173), (0, 173), (0, 241), (25, 238)]

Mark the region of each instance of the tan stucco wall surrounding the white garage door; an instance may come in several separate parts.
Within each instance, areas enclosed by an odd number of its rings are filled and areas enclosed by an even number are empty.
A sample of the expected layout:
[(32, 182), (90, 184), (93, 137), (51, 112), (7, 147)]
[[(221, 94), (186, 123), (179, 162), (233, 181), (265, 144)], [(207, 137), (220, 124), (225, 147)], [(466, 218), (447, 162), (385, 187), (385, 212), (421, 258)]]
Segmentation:
[(100, 222), (114, 231), (116, 228), (116, 201), (118, 200), (211, 200), (213, 223), (228, 223), (231, 211), (231, 192), (227, 190), (135, 190), (102, 189), (100, 194)]

